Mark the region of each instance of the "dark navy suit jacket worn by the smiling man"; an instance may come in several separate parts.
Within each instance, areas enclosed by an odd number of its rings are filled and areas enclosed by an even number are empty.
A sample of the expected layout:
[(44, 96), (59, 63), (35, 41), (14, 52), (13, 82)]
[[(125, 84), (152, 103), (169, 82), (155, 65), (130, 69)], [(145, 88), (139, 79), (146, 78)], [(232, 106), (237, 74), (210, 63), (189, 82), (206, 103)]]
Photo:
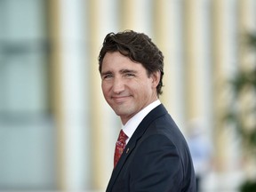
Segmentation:
[(188, 145), (161, 104), (148, 113), (124, 148), (107, 192), (194, 192)]

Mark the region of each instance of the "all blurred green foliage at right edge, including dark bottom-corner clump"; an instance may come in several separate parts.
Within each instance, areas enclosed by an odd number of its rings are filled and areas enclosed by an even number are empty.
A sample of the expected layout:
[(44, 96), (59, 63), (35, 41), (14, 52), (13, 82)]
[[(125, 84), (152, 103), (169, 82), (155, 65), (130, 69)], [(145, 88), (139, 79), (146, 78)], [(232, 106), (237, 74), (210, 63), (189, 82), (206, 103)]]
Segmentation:
[[(248, 53), (256, 54), (256, 33), (247, 34), (244, 43)], [(244, 63), (243, 63), (244, 64)], [(252, 64), (252, 65), (251, 65)], [(248, 65), (248, 63), (246, 63)], [(256, 157), (256, 63), (250, 63), (250, 69), (240, 68), (235, 78), (231, 80), (232, 90), (235, 96), (234, 105), (228, 108), (225, 122), (235, 124), (236, 131), (243, 141), (244, 148), (248, 154)], [(248, 67), (248, 66), (247, 66)], [(251, 96), (250, 101), (244, 106), (244, 96)], [(244, 110), (245, 108), (245, 110)], [(249, 119), (250, 117), (251, 119)], [(254, 120), (254, 124), (248, 125)], [(253, 119), (253, 120), (252, 120)], [(245, 180), (240, 187), (241, 192), (256, 192), (256, 180)]]

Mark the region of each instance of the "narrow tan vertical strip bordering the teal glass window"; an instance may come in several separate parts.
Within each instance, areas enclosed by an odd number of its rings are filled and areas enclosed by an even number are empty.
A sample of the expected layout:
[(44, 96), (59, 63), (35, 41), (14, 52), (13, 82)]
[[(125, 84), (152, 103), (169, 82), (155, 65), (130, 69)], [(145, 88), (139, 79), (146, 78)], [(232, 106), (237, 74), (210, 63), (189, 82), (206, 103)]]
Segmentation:
[(55, 125), (57, 128), (56, 133), (56, 182), (58, 189), (65, 188), (65, 171), (64, 171), (64, 132), (63, 132), (63, 113), (62, 113), (62, 96), (61, 96), (61, 86), (60, 86), (60, 10), (59, 0), (48, 1), (48, 10), (49, 10), (49, 36), (51, 41), (51, 53), (50, 53), (50, 71), (51, 71), (51, 79), (52, 84), (50, 87), (50, 97), (51, 97), (51, 105), (52, 105), (52, 113), (55, 119)]

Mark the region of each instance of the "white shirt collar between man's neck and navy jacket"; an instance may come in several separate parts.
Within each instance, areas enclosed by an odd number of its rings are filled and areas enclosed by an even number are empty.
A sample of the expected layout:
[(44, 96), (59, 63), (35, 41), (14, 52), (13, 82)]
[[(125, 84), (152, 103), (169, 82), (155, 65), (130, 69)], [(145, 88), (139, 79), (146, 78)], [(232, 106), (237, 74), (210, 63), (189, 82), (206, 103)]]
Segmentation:
[(132, 116), (132, 118), (123, 126), (124, 133), (128, 136), (128, 139), (126, 140), (126, 143), (130, 140), (132, 137), (133, 132), (137, 129), (140, 122), (143, 120), (145, 116), (148, 115), (148, 113), (153, 109), (156, 108), (158, 105), (160, 105), (160, 100), (155, 100), (154, 102), (150, 103), (146, 108), (143, 108), (140, 110), (139, 113), (137, 113), (135, 116)]

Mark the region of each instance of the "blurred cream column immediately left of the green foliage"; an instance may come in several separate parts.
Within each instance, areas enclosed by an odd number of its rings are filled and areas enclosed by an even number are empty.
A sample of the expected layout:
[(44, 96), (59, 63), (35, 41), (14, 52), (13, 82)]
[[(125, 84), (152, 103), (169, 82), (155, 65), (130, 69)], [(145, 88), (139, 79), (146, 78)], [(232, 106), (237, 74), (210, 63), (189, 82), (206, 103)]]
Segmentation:
[[(223, 122), (232, 102), (228, 92), (228, 79), (237, 68), (236, 58), (236, 1), (212, 1), (212, 75), (214, 103), (214, 141), (216, 169), (219, 172), (234, 170), (236, 149), (233, 127)], [(234, 36), (230, 36), (234, 34)], [(234, 164), (230, 164), (230, 161)]]

